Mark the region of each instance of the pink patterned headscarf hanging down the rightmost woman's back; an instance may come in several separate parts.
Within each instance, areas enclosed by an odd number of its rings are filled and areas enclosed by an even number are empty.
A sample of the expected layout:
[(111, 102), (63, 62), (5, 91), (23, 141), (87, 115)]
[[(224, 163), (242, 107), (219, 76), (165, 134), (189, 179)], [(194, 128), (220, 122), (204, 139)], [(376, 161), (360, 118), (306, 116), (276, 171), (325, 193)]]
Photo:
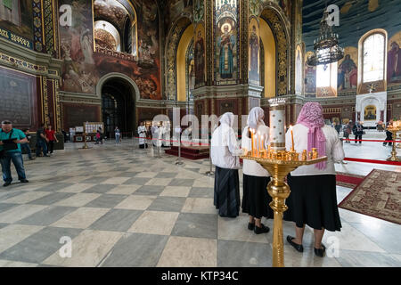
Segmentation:
[[(317, 149), (319, 157), (326, 155), (326, 137), (323, 134), (322, 127), (324, 126), (323, 108), (318, 102), (307, 102), (299, 113), (297, 124), (307, 126), (307, 151), (312, 151), (312, 148)], [(318, 169), (324, 169), (326, 162), (315, 164)]]

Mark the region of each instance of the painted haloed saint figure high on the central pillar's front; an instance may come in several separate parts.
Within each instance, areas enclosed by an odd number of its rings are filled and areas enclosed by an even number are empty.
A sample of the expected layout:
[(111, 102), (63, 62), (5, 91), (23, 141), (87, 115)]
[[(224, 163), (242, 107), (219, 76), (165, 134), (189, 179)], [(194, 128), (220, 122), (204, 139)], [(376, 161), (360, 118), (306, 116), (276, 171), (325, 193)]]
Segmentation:
[(223, 35), (217, 39), (217, 46), (220, 50), (219, 71), (220, 77), (226, 79), (233, 77), (233, 47), (235, 45), (235, 39), (230, 33), (230, 24), (223, 24), (222, 30)]

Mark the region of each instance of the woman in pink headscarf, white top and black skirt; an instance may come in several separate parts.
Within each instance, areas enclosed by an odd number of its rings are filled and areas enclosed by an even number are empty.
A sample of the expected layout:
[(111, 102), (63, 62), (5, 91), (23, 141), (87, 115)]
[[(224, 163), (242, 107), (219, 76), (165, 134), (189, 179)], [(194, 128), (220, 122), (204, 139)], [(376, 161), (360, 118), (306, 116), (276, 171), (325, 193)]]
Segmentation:
[[(293, 248), (303, 252), (302, 238), (307, 224), (314, 229), (315, 256), (323, 257), (324, 230), (340, 232), (341, 228), (334, 162), (344, 159), (344, 151), (337, 132), (331, 126), (325, 126), (323, 108), (318, 102), (304, 105), (292, 132), (295, 151), (316, 148), (319, 156), (327, 156), (327, 160), (299, 167), (288, 176), (291, 194), (286, 200), (288, 210), (284, 212), (284, 219), (295, 222), (296, 237), (287, 236), (287, 241)], [(291, 143), (289, 131), (285, 139), (288, 151)]]

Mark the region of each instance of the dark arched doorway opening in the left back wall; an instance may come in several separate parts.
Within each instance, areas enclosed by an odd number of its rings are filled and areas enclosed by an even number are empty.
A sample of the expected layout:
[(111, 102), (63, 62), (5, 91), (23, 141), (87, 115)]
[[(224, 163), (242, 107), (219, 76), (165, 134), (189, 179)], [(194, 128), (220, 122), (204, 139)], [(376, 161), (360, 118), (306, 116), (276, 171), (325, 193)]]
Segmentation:
[(102, 85), (104, 134), (114, 137), (114, 128), (123, 133), (135, 130), (135, 91), (123, 78), (112, 77)]

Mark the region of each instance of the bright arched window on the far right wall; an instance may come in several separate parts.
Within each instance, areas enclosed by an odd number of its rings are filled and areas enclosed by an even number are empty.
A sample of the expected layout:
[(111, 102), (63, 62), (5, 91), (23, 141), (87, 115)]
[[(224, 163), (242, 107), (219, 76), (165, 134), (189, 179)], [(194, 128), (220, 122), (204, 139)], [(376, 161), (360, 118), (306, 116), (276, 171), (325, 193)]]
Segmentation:
[(384, 79), (386, 56), (386, 37), (374, 33), (362, 43), (362, 82), (374, 82)]

